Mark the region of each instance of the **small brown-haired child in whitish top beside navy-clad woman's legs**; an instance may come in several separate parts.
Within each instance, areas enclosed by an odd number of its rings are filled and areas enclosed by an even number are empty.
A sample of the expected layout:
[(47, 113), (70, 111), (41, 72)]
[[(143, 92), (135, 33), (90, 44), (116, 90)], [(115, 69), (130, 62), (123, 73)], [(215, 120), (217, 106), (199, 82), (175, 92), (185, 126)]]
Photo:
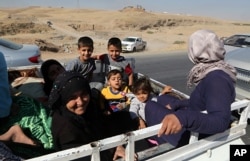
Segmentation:
[[(171, 91), (172, 87), (165, 86), (160, 94), (169, 93)], [(146, 127), (144, 111), (146, 102), (155, 97), (149, 78), (145, 76), (137, 79), (133, 85), (132, 92), (135, 98), (131, 100), (129, 111), (131, 112), (132, 119), (139, 118), (139, 129), (142, 129)]]

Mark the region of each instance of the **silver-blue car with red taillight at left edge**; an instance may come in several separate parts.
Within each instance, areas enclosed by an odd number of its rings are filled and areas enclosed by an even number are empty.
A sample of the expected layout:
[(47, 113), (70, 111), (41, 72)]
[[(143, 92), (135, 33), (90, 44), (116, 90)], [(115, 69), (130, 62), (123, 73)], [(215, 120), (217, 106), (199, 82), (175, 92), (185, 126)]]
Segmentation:
[(19, 44), (0, 38), (0, 51), (7, 67), (38, 65), (42, 62), (40, 49), (35, 44)]

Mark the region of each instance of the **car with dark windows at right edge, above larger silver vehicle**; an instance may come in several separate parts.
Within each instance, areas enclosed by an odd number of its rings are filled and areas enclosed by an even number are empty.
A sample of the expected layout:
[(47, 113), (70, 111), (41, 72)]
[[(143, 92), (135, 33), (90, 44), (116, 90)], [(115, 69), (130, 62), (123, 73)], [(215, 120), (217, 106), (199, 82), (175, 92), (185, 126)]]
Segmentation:
[(235, 34), (228, 38), (223, 38), (222, 41), (226, 52), (238, 48), (250, 47), (250, 34)]

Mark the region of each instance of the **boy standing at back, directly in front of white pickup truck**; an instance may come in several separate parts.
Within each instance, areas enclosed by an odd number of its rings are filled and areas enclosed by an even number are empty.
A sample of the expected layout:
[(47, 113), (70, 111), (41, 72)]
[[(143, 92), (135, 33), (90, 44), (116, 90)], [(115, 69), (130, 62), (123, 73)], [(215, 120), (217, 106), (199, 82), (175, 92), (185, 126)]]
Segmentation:
[(121, 56), (122, 43), (117, 37), (112, 37), (108, 41), (107, 45), (108, 54), (100, 56), (100, 59), (105, 64), (105, 73), (113, 69), (118, 69), (123, 73), (123, 78), (127, 85), (131, 87), (133, 85), (133, 69), (131, 64)]

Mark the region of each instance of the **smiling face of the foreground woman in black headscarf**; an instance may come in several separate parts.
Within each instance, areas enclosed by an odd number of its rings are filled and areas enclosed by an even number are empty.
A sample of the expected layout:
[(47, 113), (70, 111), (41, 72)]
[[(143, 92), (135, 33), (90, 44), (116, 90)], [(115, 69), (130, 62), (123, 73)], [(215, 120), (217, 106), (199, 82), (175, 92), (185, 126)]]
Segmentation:
[(89, 101), (90, 95), (79, 91), (72, 95), (72, 98), (66, 104), (66, 108), (76, 115), (82, 115), (86, 112)]

